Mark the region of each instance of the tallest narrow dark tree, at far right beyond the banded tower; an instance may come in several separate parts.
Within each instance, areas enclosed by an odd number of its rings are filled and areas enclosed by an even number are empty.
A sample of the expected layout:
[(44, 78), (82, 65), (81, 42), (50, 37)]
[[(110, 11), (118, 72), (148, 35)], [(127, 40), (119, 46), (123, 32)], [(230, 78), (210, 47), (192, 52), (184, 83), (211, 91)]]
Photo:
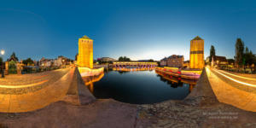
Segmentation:
[(235, 61), (238, 67), (243, 65), (243, 51), (244, 51), (244, 43), (241, 41), (241, 38), (237, 38)]

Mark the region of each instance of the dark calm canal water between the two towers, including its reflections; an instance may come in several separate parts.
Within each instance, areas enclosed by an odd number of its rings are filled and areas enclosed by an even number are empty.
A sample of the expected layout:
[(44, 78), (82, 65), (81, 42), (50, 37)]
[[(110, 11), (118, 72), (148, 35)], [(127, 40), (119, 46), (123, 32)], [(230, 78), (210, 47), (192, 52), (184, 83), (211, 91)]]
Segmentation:
[(132, 104), (183, 100), (195, 86), (195, 81), (173, 78), (154, 70), (110, 71), (84, 81), (96, 98), (113, 98)]

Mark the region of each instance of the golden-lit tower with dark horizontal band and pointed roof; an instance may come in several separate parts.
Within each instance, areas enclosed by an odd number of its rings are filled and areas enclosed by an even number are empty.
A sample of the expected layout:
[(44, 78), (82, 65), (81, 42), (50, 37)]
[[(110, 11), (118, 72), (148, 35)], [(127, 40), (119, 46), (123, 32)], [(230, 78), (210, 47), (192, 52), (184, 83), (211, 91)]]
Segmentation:
[(190, 64), (191, 69), (202, 69), (205, 67), (204, 60), (204, 40), (195, 37), (190, 41)]

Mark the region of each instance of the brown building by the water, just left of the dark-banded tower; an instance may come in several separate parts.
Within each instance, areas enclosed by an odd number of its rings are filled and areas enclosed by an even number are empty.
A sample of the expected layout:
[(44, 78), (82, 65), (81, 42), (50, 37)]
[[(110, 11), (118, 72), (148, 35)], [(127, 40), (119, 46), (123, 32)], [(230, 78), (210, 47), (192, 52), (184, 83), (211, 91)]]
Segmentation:
[(167, 67), (183, 67), (183, 55), (171, 55), (167, 59)]

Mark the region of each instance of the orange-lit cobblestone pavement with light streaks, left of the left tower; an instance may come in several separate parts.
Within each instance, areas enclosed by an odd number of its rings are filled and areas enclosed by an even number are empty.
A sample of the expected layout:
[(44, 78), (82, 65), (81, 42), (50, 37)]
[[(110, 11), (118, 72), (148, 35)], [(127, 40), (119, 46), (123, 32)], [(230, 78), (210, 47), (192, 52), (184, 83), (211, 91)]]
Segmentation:
[(66, 96), (69, 87), (67, 82), (72, 80), (72, 75), (69, 75), (72, 72), (70, 69), (59, 69), (1, 79), (0, 112), (28, 112), (60, 100)]

